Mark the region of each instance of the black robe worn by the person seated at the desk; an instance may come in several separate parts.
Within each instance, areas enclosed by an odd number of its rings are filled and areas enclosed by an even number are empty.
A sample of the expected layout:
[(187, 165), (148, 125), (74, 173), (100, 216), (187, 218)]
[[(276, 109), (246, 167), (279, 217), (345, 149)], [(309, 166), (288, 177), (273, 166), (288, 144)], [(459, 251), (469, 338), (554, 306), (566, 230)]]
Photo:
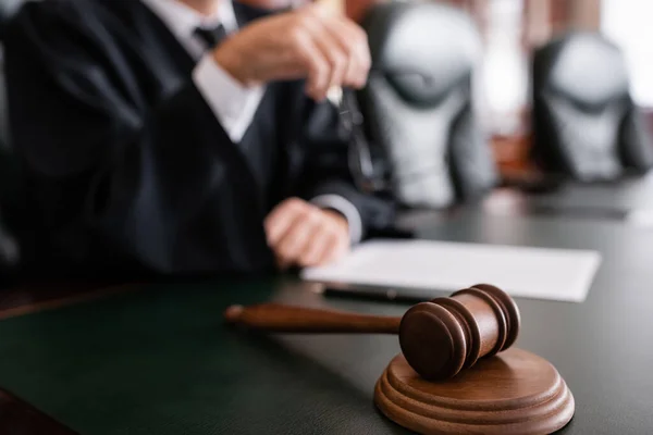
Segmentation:
[[(264, 15), (234, 3), (241, 26)], [(63, 273), (225, 274), (274, 268), (264, 216), (336, 194), (366, 231), (392, 208), (354, 188), (347, 138), (304, 83), (269, 84), (242, 142), (195, 87), (194, 60), (138, 0), (47, 0), (5, 35), (27, 257)]]

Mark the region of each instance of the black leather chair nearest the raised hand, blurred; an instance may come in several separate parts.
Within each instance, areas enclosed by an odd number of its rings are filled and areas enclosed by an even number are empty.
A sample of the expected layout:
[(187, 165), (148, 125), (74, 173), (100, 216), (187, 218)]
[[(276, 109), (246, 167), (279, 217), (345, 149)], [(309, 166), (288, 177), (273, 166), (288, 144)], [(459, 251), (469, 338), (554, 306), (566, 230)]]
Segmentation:
[(472, 21), (444, 4), (390, 2), (372, 7), (362, 26), (372, 71), (361, 110), (394, 197), (427, 208), (482, 197), (497, 171), (473, 115), (481, 49)]

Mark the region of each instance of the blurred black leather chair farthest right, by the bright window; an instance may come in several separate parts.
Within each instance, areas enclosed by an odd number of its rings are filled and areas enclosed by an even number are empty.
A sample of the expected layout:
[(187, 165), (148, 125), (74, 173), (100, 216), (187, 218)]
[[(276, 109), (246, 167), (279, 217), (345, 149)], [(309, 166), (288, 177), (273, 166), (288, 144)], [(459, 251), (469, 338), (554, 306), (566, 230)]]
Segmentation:
[(533, 58), (533, 159), (582, 182), (645, 173), (653, 148), (629, 94), (620, 50), (594, 33), (571, 33)]

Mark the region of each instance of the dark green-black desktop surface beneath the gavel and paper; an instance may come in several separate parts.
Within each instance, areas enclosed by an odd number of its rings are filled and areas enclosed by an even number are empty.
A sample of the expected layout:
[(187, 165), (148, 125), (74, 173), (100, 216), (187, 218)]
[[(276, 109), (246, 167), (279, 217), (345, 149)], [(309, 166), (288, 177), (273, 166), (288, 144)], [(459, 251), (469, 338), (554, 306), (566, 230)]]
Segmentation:
[[(418, 235), (601, 251), (584, 303), (517, 299), (517, 346), (574, 391), (564, 433), (651, 432), (652, 232), (458, 213)], [(0, 321), (0, 386), (79, 434), (405, 433), (372, 405), (396, 337), (257, 336), (225, 328), (221, 313), (267, 300), (393, 315), (407, 306), (325, 298), (293, 277), (137, 287)], [(2, 427), (2, 412), (0, 400), (0, 433), (30, 433)]]

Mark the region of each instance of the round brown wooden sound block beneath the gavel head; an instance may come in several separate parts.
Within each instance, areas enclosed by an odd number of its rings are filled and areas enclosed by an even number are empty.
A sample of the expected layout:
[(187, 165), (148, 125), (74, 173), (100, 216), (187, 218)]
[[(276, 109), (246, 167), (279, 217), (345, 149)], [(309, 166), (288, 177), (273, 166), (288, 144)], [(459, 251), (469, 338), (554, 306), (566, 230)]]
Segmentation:
[(374, 402), (421, 434), (550, 434), (574, 417), (574, 396), (546, 360), (508, 349), (457, 376), (424, 381), (403, 355), (381, 375)]

